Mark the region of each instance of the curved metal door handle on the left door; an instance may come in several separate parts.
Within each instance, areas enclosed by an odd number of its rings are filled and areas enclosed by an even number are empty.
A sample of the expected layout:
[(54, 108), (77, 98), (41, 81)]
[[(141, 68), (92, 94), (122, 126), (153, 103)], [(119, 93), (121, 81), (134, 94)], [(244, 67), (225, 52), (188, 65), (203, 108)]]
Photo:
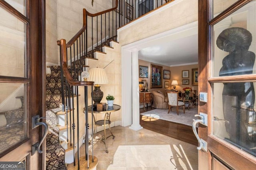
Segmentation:
[(43, 141), (44, 141), (44, 139), (45, 139), (45, 137), (46, 137), (46, 135), (48, 133), (48, 125), (46, 123), (40, 121), (40, 119), (45, 119), (45, 117), (40, 117), (39, 115), (36, 115), (36, 116), (33, 116), (31, 118), (32, 129), (34, 129), (34, 128), (40, 126), (40, 125), (44, 126), (44, 135), (43, 135), (40, 143), (37, 142), (34, 145), (32, 145), (32, 155), (36, 152), (36, 150), (38, 151), (38, 153), (42, 153), (43, 152), (42, 150), (40, 150), (40, 147), (41, 147), (41, 145), (42, 145), (42, 143), (43, 143)]

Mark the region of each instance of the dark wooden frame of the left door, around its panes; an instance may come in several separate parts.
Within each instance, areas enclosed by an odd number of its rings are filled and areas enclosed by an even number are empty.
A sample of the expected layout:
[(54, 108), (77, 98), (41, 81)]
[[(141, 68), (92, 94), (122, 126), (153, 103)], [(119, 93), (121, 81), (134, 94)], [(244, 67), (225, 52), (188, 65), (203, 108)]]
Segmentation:
[[(20, 143), (15, 145), (14, 147), (10, 148), (12, 151), (6, 152), (4, 156), (2, 156), (2, 161), (10, 161), (10, 158), (14, 158), (16, 156), (16, 159), (21, 160), (24, 155), (24, 150), (20, 150), (22, 147), (28, 148), (28, 146), (33, 145), (34, 143), (38, 142), (40, 139), (42, 139), (43, 133), (44, 133), (44, 127), (38, 127), (35, 129), (31, 128), (31, 117), (32, 115), (40, 115), (40, 117), (45, 117), (45, 73), (46, 73), (46, 62), (45, 62), (45, 50), (46, 50), (46, 29), (45, 29), (45, 0), (27, 0), (27, 6), (26, 9), (28, 14), (27, 18), (22, 16), (17, 10), (14, 10), (12, 6), (10, 6), (6, 2), (0, 2), (2, 4), (3, 8), (8, 9), (9, 11), (12, 11), (13, 13), (16, 13), (21, 20), (23, 21), (30, 21), (30, 24), (28, 25), (28, 29), (26, 33), (28, 34), (26, 36), (26, 43), (28, 43), (28, 48), (26, 49), (28, 53), (28, 59), (26, 60), (26, 65), (30, 66), (27, 77), (32, 78), (30, 81), (30, 94), (35, 94), (38, 96), (38, 100), (30, 100), (29, 104), (27, 106), (27, 109), (29, 110), (29, 114), (27, 115), (26, 121), (30, 124), (30, 127), (28, 127), (28, 139), (25, 139), (23, 143)], [(29, 30), (29, 31), (28, 31)], [(35, 56), (30, 58), (29, 56)], [(38, 71), (37, 71), (38, 70)], [(11, 78), (2, 76), (1, 81), (2, 82), (27, 82), (28, 80), (25, 80), (24, 78)], [(39, 87), (39, 88), (38, 88)], [(30, 95), (27, 94), (27, 95)], [(31, 98), (31, 96), (28, 96), (28, 98)], [(45, 120), (43, 120), (45, 121)], [(32, 135), (32, 132), (35, 132), (35, 135)], [(38, 133), (39, 132), (39, 133)], [(44, 152), (42, 154), (38, 154), (36, 152), (35, 156), (33, 158), (36, 160), (30, 160), (32, 157), (31, 154), (28, 154), (27, 161), (28, 165), (30, 164), (30, 167), (27, 166), (28, 169), (39, 169), (44, 170), (46, 169), (46, 142), (43, 142), (42, 144), (42, 150)], [(20, 154), (18, 154), (20, 153)], [(22, 153), (22, 154), (21, 154)]]

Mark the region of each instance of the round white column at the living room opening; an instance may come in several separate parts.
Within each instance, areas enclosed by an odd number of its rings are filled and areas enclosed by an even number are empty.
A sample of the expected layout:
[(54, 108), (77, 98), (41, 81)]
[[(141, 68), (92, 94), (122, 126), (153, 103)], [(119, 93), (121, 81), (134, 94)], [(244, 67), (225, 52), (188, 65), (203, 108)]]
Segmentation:
[(139, 61), (138, 49), (132, 50), (132, 125), (135, 131), (142, 129), (140, 126), (140, 100), (139, 100)]

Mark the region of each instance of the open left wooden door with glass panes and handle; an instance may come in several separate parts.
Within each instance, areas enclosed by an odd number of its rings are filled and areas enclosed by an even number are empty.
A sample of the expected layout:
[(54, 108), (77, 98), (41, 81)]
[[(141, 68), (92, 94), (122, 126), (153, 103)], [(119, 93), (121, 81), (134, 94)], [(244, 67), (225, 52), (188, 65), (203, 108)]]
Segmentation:
[(45, 130), (38, 126), (38, 117), (44, 116), (43, 4), (0, 0), (1, 168), (45, 168), (44, 143), (40, 147)]

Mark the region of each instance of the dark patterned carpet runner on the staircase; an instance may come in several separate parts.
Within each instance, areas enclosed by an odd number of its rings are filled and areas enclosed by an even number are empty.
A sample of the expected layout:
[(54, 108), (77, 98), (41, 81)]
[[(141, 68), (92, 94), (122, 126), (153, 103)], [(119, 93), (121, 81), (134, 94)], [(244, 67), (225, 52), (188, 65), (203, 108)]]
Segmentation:
[[(116, 41), (116, 36), (108, 39), (102, 45), (97, 46), (94, 50), (89, 51), (87, 56), (72, 62), (72, 68), (68, 66), (68, 70), (72, 74), (74, 80), (78, 81), (78, 75), (85, 65), (84, 58), (94, 59), (94, 52), (102, 52), (103, 46), (110, 46), (110, 41)], [(50, 66), (51, 73), (46, 74), (46, 123), (49, 126), (46, 136), (46, 170), (66, 170), (65, 150), (60, 145), (59, 132), (56, 114), (62, 110), (61, 96), (61, 73), (60, 66)], [(65, 77), (64, 77), (65, 81)], [(66, 89), (64, 83), (64, 92)], [(71, 89), (70, 89), (71, 90)]]

